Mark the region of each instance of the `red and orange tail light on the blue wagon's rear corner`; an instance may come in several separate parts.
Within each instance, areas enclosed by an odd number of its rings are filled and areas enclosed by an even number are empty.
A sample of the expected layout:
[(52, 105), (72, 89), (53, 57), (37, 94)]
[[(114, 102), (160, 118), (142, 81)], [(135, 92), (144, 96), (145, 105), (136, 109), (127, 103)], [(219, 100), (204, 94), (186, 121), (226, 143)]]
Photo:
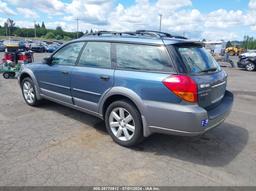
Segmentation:
[(181, 99), (197, 102), (197, 84), (189, 76), (172, 75), (164, 79), (163, 84)]

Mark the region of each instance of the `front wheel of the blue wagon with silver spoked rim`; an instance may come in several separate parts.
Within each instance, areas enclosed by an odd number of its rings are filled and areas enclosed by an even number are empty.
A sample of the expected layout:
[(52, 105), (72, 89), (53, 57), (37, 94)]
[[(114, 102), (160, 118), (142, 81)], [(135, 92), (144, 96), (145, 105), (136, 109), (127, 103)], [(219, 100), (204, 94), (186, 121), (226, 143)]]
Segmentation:
[(35, 85), (31, 78), (25, 78), (21, 82), (22, 95), (25, 102), (30, 106), (37, 106), (39, 100), (36, 97)]

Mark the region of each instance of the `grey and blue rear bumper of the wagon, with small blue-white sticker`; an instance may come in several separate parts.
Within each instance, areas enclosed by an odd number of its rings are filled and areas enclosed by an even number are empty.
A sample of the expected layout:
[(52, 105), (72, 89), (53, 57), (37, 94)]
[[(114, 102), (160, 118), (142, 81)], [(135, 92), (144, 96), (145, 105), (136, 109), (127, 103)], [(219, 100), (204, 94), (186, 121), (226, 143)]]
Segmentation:
[(233, 94), (226, 91), (219, 106), (205, 110), (198, 105), (177, 105), (145, 102), (148, 135), (163, 133), (182, 136), (197, 136), (220, 125), (230, 114)]

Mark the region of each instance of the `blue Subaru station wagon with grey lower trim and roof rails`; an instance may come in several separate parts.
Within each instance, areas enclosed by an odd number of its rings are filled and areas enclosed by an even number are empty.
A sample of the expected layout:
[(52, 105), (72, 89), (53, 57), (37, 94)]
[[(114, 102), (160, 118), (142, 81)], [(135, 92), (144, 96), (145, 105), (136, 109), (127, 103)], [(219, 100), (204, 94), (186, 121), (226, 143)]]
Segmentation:
[(19, 75), (30, 106), (47, 99), (105, 120), (115, 142), (196, 136), (229, 115), (227, 74), (195, 41), (157, 31), (101, 31), (69, 42)]

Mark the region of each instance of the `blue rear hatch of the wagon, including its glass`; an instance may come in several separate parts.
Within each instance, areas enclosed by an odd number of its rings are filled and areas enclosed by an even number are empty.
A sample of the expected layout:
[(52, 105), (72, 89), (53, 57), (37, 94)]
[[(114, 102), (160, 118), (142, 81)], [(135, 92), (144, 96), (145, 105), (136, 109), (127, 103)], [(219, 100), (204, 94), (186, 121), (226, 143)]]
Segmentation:
[(226, 92), (227, 74), (200, 44), (177, 44), (185, 73), (197, 84), (198, 104), (212, 109), (221, 103)]

